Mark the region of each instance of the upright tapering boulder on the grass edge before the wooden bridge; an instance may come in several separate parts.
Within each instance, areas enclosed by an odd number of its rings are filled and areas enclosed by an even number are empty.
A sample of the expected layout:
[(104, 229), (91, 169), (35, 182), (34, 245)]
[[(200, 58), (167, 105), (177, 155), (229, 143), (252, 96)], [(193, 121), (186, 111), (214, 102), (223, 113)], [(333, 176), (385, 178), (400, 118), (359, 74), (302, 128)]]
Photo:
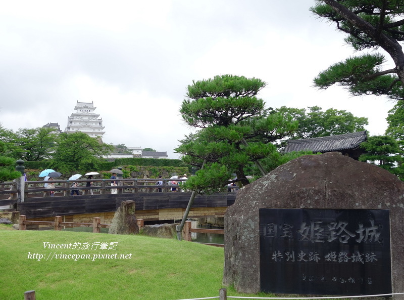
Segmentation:
[(115, 212), (108, 231), (111, 234), (137, 234), (139, 226), (135, 217), (135, 201), (122, 201), (121, 206)]

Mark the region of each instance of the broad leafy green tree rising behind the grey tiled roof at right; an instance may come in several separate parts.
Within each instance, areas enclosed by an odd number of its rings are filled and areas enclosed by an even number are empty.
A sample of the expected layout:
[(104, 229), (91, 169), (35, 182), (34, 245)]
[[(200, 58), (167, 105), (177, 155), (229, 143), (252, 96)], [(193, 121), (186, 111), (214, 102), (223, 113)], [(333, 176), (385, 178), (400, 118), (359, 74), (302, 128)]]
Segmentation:
[(290, 136), (292, 139), (308, 139), (342, 135), (364, 131), (368, 118), (355, 117), (346, 110), (333, 108), (323, 111), (321, 107), (288, 108), (282, 106), (274, 112), (288, 113), (299, 122), (297, 130)]

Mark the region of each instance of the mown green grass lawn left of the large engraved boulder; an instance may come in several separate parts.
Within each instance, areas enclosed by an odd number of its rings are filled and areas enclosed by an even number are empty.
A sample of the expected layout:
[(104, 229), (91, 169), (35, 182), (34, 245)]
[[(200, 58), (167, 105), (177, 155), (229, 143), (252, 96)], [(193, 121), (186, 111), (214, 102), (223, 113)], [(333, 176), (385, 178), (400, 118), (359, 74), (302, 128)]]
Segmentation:
[[(218, 296), (223, 287), (223, 248), (142, 235), (7, 228), (0, 227), (2, 300), (23, 299), (28, 290), (35, 290), (36, 300), (176, 300)], [(76, 249), (45, 247), (75, 243)]]

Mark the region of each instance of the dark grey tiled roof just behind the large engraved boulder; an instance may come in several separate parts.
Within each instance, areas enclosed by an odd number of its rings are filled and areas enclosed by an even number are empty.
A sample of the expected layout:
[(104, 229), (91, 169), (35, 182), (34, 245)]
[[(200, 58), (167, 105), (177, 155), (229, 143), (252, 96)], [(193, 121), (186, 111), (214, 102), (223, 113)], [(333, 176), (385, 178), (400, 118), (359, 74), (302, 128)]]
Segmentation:
[(331, 152), (346, 149), (355, 149), (367, 138), (366, 131), (360, 131), (351, 134), (302, 139), (288, 140), (283, 152), (292, 152), (300, 150), (311, 150), (313, 152)]

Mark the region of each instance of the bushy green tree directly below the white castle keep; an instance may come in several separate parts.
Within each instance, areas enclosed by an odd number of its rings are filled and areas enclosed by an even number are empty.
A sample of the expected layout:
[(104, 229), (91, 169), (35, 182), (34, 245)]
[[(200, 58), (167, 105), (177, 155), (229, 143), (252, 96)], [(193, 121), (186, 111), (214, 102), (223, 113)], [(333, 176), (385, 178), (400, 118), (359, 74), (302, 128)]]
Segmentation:
[(85, 133), (61, 133), (56, 139), (55, 152), (49, 167), (62, 174), (97, 170), (100, 158), (112, 150), (112, 145), (100, 143)]

